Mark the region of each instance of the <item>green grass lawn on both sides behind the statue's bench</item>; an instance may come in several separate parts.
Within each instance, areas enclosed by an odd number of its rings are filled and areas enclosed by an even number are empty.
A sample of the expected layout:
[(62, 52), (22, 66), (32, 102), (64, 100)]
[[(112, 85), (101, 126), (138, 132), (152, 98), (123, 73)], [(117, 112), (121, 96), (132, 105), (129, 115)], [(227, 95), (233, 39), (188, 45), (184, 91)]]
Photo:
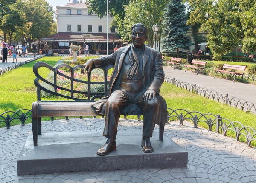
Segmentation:
[[(44, 57), (35, 62), (43, 61), (54, 66), (59, 59), (60, 57)], [(33, 83), (35, 75), (32, 71), (35, 62), (23, 65), (0, 76), (0, 114), (9, 110), (31, 109), (32, 102), (37, 100), (36, 87)], [(40, 73), (41, 76), (47, 77), (49, 70), (41, 69)], [(166, 99), (169, 108), (198, 111), (203, 114), (220, 114), (221, 117), (228, 118), (231, 121), (240, 121), (242, 124), (256, 129), (256, 115), (254, 114), (245, 113), (242, 110), (206, 99), (168, 83), (163, 84), (160, 94)], [(44, 99), (42, 98), (42, 100)], [(129, 118), (136, 118), (136, 116), (129, 116)], [(43, 118), (43, 120), (49, 120), (49, 118)], [(28, 123), (30, 120), (26, 122)], [(13, 121), (11, 125), (15, 124), (20, 124), (20, 122)], [(200, 126), (207, 127), (204, 123), (201, 123)], [(0, 127), (5, 127), (5, 124), (0, 123)], [(228, 135), (233, 136), (230, 132)]]

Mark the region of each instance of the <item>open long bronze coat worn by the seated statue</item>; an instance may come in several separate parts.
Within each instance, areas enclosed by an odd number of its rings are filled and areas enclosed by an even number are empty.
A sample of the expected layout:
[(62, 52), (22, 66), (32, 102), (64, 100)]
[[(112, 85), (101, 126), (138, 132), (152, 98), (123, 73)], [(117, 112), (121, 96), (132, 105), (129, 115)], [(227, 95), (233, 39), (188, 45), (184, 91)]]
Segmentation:
[[(119, 75), (122, 71), (122, 65), (127, 55), (128, 51), (130, 51), (131, 46), (125, 46), (119, 48), (113, 54), (97, 59), (93, 59), (93, 63), (95, 68), (99, 68), (101, 66), (109, 66), (114, 65), (113, 73), (110, 78), (108, 95), (111, 95), (116, 89), (119, 88), (120, 80)], [(143, 79), (145, 88), (153, 89), (159, 95), (161, 85), (164, 82), (164, 72), (163, 72), (163, 64), (162, 64), (162, 55), (160, 52), (145, 46), (145, 51), (143, 55)], [(164, 124), (167, 122), (167, 104), (166, 101), (159, 95), (160, 97), (160, 110), (159, 119), (157, 120), (157, 124)], [(93, 107), (96, 109), (96, 112), (100, 115), (105, 115), (105, 102), (108, 100), (108, 97), (104, 97), (99, 101), (93, 104)]]

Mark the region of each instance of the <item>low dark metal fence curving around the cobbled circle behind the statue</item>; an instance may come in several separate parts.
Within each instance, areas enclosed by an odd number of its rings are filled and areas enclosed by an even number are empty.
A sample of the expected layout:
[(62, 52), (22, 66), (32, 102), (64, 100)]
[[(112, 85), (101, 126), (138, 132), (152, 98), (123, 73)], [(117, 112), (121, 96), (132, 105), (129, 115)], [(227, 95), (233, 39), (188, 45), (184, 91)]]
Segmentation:
[[(198, 125), (204, 126), (206, 124), (209, 131), (215, 130), (217, 133), (223, 135), (229, 135), (236, 139), (236, 141), (246, 141), (247, 145), (250, 146), (252, 141), (256, 141), (255, 135), (256, 131), (253, 127), (244, 126), (241, 122), (230, 121), (227, 118), (221, 117), (220, 115), (214, 114), (203, 114), (197, 111), (189, 112), (184, 109), (171, 109), (168, 108), (168, 121), (179, 121), (180, 125), (183, 125), (184, 121), (190, 121), (195, 128)], [(10, 128), (10, 124), (14, 120), (19, 120), (21, 125), (25, 125), (25, 121), (29, 120), (31, 117), (31, 110), (23, 109), (18, 110), (17, 112), (8, 111), (0, 115), (0, 122), (6, 124), (6, 129)], [(81, 116), (80, 116), (81, 118)], [(66, 117), (66, 120), (68, 118)]]

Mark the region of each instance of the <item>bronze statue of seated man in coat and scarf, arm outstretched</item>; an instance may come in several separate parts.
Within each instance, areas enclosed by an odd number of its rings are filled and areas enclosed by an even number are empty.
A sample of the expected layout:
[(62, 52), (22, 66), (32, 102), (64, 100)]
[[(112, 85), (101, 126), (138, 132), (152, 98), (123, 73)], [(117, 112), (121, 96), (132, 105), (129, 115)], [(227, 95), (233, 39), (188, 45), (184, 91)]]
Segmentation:
[(110, 56), (88, 60), (83, 68), (90, 72), (92, 68), (114, 65), (109, 84), (109, 96), (96, 101), (92, 106), (99, 115), (105, 115), (103, 136), (107, 142), (97, 155), (108, 155), (116, 150), (117, 125), (125, 107), (135, 104), (143, 110), (142, 151), (153, 152), (150, 138), (155, 124), (166, 123), (166, 101), (159, 95), (164, 82), (162, 55), (145, 45), (148, 39), (147, 28), (136, 23), (131, 28), (132, 45), (121, 47)]

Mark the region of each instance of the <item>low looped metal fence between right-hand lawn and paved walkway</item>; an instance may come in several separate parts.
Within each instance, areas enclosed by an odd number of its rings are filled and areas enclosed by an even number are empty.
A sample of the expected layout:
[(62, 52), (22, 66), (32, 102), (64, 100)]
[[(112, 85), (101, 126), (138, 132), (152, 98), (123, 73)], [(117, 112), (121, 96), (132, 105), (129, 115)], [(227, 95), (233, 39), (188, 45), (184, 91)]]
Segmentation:
[(239, 99), (237, 97), (230, 96), (228, 94), (221, 94), (214, 90), (209, 90), (204, 87), (197, 86), (196, 84), (190, 84), (187, 82), (182, 82), (175, 78), (165, 77), (165, 82), (173, 84), (177, 87), (186, 89), (192, 93), (204, 96), (207, 99), (212, 99), (222, 104), (227, 104), (231, 107), (235, 107), (245, 112), (256, 114), (256, 104), (253, 104), (251, 101), (246, 101), (244, 99)]

